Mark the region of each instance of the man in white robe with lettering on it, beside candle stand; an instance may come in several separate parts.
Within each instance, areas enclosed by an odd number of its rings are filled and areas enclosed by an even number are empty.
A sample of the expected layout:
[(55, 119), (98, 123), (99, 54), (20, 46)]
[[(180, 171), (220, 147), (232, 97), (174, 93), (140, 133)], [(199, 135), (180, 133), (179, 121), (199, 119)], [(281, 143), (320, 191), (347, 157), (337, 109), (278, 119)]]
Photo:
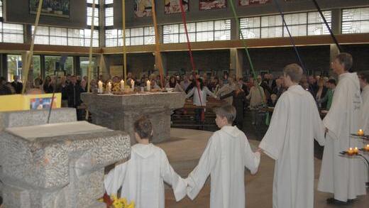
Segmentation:
[(327, 199), (329, 204), (349, 204), (358, 195), (365, 195), (365, 165), (360, 158), (346, 158), (341, 151), (350, 147), (363, 146), (351, 133), (360, 128), (360, 84), (358, 75), (350, 73), (352, 56), (348, 53), (337, 55), (332, 62), (333, 71), (339, 76), (334, 97), (323, 123), (328, 131), (326, 146), (319, 177), (318, 190), (333, 193)]

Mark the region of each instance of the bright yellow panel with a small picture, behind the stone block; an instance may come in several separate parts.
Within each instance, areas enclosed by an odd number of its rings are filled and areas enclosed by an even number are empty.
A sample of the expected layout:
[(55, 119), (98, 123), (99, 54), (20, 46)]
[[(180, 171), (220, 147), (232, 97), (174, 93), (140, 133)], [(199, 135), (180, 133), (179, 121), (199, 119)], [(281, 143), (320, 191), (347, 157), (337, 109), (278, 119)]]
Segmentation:
[[(30, 109), (48, 109), (53, 94), (13, 94), (0, 96), (0, 111), (25, 111)], [(55, 93), (53, 108), (62, 105), (62, 94)]]

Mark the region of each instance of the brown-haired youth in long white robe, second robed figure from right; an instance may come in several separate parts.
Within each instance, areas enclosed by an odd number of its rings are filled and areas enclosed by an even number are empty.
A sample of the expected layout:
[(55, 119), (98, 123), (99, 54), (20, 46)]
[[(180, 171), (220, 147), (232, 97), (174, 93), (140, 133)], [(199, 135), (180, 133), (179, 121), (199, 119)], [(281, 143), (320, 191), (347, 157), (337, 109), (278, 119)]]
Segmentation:
[(324, 145), (324, 126), (312, 94), (298, 84), (302, 73), (297, 64), (285, 67), (288, 89), (259, 145), (275, 160), (273, 208), (314, 207), (314, 138)]

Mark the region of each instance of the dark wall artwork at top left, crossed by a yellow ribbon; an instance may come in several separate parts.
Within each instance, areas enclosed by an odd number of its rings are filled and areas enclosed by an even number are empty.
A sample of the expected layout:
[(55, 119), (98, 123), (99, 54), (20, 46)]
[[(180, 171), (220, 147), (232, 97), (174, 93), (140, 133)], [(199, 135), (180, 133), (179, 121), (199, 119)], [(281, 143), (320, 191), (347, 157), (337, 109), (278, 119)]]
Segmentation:
[[(37, 13), (38, 1), (39, 0), (29, 0), (30, 13)], [(41, 15), (69, 18), (70, 0), (44, 0)]]

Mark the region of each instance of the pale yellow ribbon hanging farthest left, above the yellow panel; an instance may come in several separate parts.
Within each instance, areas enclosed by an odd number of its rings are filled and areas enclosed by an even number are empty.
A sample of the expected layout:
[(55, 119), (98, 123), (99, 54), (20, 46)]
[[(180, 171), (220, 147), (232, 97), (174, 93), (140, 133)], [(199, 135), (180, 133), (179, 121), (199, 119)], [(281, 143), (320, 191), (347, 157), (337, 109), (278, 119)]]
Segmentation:
[(31, 60), (33, 58), (33, 47), (35, 46), (35, 37), (36, 37), (37, 29), (38, 29), (38, 22), (40, 21), (40, 14), (41, 14), (42, 7), (43, 7), (43, 0), (40, 0), (38, 1), (38, 9), (37, 9), (36, 20), (35, 20), (35, 29), (33, 30), (30, 53), (26, 54), (26, 66), (24, 67), (24, 71), (23, 71), (22, 94), (24, 94), (26, 90), (26, 85), (28, 81), (28, 71), (31, 67)]

